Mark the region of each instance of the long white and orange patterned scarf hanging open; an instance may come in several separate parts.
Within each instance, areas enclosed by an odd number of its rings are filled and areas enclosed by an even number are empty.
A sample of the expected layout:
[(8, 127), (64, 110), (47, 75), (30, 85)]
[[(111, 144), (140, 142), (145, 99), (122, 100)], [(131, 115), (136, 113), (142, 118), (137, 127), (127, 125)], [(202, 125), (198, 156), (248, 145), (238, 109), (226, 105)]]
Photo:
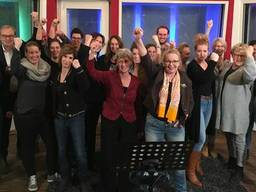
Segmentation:
[(164, 80), (162, 88), (159, 92), (159, 105), (157, 110), (157, 115), (160, 118), (167, 118), (169, 123), (175, 122), (177, 118), (179, 103), (180, 103), (180, 75), (177, 72), (172, 80), (172, 90), (171, 90), (171, 101), (166, 111), (166, 103), (169, 93), (169, 77), (164, 72)]

